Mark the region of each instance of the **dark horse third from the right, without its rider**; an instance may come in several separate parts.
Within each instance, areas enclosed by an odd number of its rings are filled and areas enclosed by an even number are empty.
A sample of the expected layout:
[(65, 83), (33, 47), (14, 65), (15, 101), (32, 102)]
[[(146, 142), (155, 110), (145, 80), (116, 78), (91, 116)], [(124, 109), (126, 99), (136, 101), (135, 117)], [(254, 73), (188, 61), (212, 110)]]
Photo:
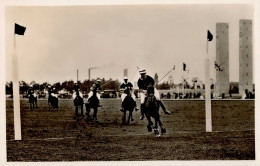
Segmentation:
[(89, 98), (88, 102), (86, 103), (86, 115), (87, 115), (87, 120), (90, 120), (90, 109), (94, 110), (93, 113), (93, 120), (96, 120), (96, 122), (98, 122), (97, 119), (97, 112), (98, 112), (98, 106), (99, 106), (99, 100), (97, 97), (97, 91), (95, 89), (93, 89), (93, 95)]

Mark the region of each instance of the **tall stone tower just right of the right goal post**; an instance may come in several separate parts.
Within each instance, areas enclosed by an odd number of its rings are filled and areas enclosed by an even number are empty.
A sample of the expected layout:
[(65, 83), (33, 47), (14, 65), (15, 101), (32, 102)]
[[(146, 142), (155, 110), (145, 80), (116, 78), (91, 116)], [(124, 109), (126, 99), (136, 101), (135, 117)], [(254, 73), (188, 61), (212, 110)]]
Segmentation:
[(216, 63), (222, 71), (216, 71), (216, 93), (229, 93), (229, 27), (227, 23), (216, 24)]

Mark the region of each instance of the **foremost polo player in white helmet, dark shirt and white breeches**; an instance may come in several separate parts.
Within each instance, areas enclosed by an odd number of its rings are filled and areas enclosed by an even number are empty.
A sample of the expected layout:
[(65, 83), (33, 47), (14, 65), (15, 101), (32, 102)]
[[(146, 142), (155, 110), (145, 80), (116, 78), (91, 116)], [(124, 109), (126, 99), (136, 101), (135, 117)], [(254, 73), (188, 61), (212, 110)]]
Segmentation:
[[(149, 85), (154, 86), (155, 82), (151, 76), (146, 75), (145, 69), (139, 70), (139, 73), (140, 73), (141, 77), (138, 79), (137, 85), (138, 85), (139, 89), (141, 90), (141, 94), (140, 94), (141, 95), (140, 96), (141, 97), (141, 117), (140, 117), (140, 119), (143, 120), (144, 119), (144, 100), (145, 100), (145, 96), (146, 96), (147, 86), (149, 86)], [(159, 104), (161, 105), (164, 113), (170, 114), (170, 112), (167, 111), (165, 106), (163, 105), (163, 103), (160, 99), (160, 94), (156, 88), (154, 88), (154, 96), (155, 96), (156, 100), (159, 102)]]

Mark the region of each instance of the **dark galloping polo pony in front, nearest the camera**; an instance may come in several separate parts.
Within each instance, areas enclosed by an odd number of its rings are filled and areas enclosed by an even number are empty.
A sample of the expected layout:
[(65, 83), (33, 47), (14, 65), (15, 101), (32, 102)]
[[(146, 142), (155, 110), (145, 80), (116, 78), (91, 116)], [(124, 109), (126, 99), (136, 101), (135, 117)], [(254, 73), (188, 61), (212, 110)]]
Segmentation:
[[(166, 133), (166, 129), (163, 128), (163, 124), (160, 120), (159, 108), (160, 108), (160, 104), (154, 96), (154, 87), (148, 86), (147, 97), (145, 98), (145, 102), (144, 102), (144, 114), (148, 120), (148, 125), (147, 125), (148, 131), (151, 132), (152, 129), (154, 129), (154, 134), (156, 135), (156, 137), (160, 137), (159, 130), (158, 130), (158, 123), (161, 127), (161, 134), (163, 135), (164, 133)], [(154, 118), (154, 123), (155, 123), (154, 126), (151, 117)]]

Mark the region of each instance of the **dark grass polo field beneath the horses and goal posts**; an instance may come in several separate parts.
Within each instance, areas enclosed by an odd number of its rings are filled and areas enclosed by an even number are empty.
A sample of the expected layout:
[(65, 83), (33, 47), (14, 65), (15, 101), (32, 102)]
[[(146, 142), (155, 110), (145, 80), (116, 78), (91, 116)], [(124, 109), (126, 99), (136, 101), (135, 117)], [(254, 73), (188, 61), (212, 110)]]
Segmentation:
[[(21, 100), (22, 141), (14, 141), (12, 100), (6, 101), (7, 161), (254, 160), (254, 101), (212, 101), (213, 132), (205, 132), (204, 101), (164, 101), (167, 133), (156, 138), (147, 120), (122, 125), (120, 100), (101, 100), (99, 123), (73, 119), (72, 100), (58, 111), (47, 100), (30, 111)], [(138, 101), (139, 104), (139, 101)]]

